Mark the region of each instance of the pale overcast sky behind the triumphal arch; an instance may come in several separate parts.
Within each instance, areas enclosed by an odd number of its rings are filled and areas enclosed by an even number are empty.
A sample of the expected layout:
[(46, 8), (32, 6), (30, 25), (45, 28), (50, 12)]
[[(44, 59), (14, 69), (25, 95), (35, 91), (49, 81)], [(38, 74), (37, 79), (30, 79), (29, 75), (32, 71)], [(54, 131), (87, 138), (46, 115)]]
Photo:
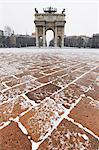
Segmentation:
[(5, 25), (17, 34), (35, 32), (34, 8), (42, 12), (44, 7), (66, 9), (66, 35), (99, 33), (99, 0), (0, 0), (0, 29)]

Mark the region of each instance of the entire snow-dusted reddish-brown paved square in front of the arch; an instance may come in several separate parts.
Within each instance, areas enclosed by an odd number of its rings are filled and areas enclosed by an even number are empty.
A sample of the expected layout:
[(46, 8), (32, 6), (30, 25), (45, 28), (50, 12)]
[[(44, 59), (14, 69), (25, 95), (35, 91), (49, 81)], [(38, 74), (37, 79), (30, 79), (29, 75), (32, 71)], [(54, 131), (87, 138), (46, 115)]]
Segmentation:
[(2, 149), (98, 150), (98, 50), (26, 51), (0, 53)]

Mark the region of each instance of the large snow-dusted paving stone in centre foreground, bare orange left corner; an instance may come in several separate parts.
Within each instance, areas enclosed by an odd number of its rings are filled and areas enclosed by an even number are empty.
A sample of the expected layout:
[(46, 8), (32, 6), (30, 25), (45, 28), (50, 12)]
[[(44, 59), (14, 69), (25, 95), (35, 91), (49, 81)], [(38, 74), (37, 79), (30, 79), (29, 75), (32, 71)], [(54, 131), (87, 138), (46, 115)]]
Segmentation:
[(53, 99), (46, 98), (43, 103), (22, 116), (20, 122), (32, 139), (38, 142), (55, 126), (63, 113)]

